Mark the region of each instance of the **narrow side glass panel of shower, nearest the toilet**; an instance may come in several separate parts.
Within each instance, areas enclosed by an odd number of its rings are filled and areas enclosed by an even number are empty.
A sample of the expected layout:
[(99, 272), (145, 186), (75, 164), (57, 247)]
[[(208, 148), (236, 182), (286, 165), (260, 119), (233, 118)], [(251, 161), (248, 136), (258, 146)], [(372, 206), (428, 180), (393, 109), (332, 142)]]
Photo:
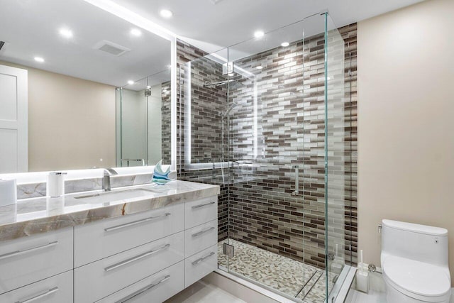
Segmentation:
[(347, 209), (353, 184), (351, 113), (346, 111), (350, 71), (345, 68), (345, 41), (328, 13), (324, 18), (326, 297), (335, 298), (350, 268), (346, 264), (353, 263), (351, 231), (345, 228), (351, 226)]

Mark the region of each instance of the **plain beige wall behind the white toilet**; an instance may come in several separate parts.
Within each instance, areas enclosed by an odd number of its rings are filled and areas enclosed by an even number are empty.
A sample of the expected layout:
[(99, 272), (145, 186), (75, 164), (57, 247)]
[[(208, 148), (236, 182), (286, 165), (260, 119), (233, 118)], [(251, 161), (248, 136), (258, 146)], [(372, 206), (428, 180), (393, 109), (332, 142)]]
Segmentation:
[[(382, 219), (448, 228), (454, 273), (454, 1), (358, 23), (358, 246)], [(454, 281), (454, 279), (452, 279)]]

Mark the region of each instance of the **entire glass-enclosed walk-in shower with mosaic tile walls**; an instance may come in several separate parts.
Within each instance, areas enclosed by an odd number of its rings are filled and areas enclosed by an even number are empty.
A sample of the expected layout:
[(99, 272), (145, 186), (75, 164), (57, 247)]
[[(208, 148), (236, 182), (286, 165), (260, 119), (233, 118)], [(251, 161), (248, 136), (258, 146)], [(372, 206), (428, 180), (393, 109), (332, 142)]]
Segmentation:
[(221, 186), (218, 267), (297, 302), (331, 302), (356, 262), (355, 27), (341, 31), (318, 13), (178, 50), (177, 168)]

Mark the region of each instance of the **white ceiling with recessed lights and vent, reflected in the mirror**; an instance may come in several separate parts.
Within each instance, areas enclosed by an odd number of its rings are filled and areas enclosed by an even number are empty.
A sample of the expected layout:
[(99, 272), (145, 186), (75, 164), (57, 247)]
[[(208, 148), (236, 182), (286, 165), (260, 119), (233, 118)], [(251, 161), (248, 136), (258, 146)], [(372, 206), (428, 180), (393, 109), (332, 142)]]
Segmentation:
[[(73, 38), (59, 35), (64, 26)], [(0, 61), (121, 87), (170, 65), (169, 40), (147, 31), (135, 37), (132, 28), (137, 27), (82, 0), (0, 0), (0, 40), (7, 43)], [(131, 51), (117, 57), (94, 49), (101, 40)], [(35, 56), (45, 62), (35, 62)], [(168, 72), (156, 77), (162, 75), (170, 79)]]

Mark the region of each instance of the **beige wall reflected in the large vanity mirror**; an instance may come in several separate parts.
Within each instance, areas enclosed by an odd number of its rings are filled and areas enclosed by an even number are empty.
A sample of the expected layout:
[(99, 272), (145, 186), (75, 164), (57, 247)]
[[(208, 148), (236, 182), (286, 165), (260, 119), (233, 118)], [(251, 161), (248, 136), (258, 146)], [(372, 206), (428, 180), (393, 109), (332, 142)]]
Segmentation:
[(0, 64), (28, 70), (29, 171), (116, 166), (115, 87)]

